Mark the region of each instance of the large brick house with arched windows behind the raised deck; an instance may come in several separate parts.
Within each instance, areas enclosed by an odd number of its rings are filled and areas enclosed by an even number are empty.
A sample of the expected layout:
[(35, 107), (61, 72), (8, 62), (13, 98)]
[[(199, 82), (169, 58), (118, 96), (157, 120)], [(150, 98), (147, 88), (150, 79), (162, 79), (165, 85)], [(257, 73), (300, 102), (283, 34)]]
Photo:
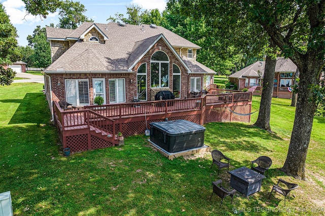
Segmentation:
[(77, 29), (46, 27), (52, 64), (45, 90), (53, 101), (91, 105), (154, 100), (160, 90), (188, 98), (213, 84), (215, 72), (196, 61), (201, 47), (156, 25), (85, 22)]

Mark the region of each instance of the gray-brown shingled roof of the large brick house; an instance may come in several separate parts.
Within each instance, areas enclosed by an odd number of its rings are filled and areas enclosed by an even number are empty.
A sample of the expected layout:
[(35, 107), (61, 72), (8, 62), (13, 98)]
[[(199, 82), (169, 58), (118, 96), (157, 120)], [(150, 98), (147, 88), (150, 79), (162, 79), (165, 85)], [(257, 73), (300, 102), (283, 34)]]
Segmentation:
[[(119, 26), (117, 23), (85, 22), (75, 30), (47, 27), (47, 37), (49, 40), (78, 39), (93, 24), (108, 38), (105, 44), (79, 41), (46, 70), (57, 71), (62, 68), (64, 71), (75, 72), (127, 71), (161, 34), (173, 47), (201, 48), (164, 27), (151, 28), (150, 25), (143, 25), (143, 31), (142, 26), (138, 25)], [(196, 73), (215, 73), (199, 62), (186, 62)]]

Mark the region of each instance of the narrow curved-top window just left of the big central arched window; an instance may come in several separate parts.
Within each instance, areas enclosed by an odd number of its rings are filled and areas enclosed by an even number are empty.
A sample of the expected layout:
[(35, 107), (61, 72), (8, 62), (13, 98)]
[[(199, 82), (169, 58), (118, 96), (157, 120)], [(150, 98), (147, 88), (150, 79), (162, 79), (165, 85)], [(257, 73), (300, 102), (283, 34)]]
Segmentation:
[(137, 70), (137, 97), (138, 100), (147, 100), (147, 63), (143, 63)]

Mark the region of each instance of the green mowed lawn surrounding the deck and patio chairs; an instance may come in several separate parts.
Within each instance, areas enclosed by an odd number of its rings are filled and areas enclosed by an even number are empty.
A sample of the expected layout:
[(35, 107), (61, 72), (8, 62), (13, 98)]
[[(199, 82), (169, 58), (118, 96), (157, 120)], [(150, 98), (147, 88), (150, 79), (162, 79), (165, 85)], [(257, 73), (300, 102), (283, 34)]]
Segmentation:
[[(295, 108), (290, 100), (273, 98), (273, 133), (251, 123), (206, 124), (205, 144), (230, 157), (231, 170), (250, 167), (267, 155), (273, 164), (261, 192), (248, 198), (239, 192), (233, 204), (212, 193), (230, 174), (210, 169), (210, 153), (168, 160), (153, 149), (145, 135), (125, 138), (125, 145), (64, 157), (51, 119), (43, 84), (0, 87), (0, 192), (11, 191), (15, 215), (323, 215), (324, 118), (315, 117), (306, 163), (307, 181), (279, 171), (286, 158)], [(253, 97), (252, 111), (260, 97)], [(299, 184), (290, 202), (271, 195), (278, 178)]]

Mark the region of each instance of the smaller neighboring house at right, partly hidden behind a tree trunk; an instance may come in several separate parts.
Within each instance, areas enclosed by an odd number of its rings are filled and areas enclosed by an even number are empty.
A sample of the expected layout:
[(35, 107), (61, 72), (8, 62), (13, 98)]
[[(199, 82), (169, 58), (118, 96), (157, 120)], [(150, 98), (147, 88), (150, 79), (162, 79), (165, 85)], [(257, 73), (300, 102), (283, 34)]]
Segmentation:
[[(263, 77), (265, 70), (265, 61), (256, 61), (255, 63), (237, 71), (229, 76), (229, 81), (237, 85), (238, 90), (259, 86), (262, 90)], [(296, 64), (288, 58), (277, 58), (275, 66), (273, 97), (291, 98), (292, 92), (288, 87), (293, 85)]]

